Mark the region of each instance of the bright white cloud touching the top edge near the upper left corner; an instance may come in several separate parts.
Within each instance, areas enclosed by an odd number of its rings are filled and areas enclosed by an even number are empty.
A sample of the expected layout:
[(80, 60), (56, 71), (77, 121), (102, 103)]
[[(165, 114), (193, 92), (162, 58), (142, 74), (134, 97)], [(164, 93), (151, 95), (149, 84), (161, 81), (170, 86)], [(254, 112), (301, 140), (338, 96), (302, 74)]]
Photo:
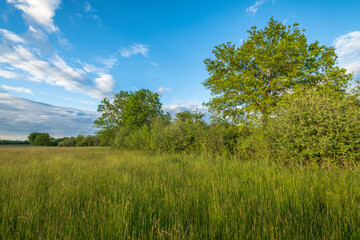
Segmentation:
[(53, 17), (61, 0), (7, 0), (23, 12), (24, 19), (29, 24), (37, 24), (47, 32), (58, 32)]

